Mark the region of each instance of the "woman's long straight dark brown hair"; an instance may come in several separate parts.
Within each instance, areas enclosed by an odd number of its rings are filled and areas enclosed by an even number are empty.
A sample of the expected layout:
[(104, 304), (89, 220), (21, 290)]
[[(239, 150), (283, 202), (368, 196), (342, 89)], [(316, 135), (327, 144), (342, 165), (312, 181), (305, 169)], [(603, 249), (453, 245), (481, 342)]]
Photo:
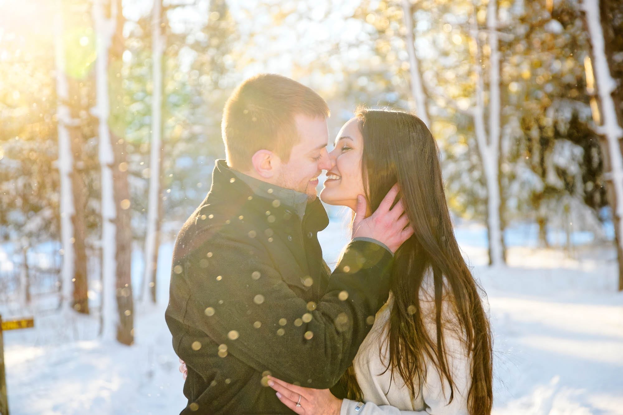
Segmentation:
[[(392, 267), (388, 370), (397, 371), (417, 396), (414, 379), (419, 383), (426, 379), (426, 356), (450, 384), (452, 401), (455, 383), (442, 331), (448, 323), (442, 319), (442, 300), (450, 301), (450, 310), (456, 314), (453, 320), (459, 325), (453, 330), (464, 333), (465, 350), (472, 360), (468, 411), (488, 415), (493, 404), (492, 335), (480, 297), (484, 291), (473, 279), (454, 237), (437, 143), (422, 120), (407, 112), (363, 109), (356, 117), (363, 135), (362, 171), (371, 210), (375, 211), (391, 186), (398, 183), (415, 229), (397, 250)], [(427, 334), (419, 302), (422, 279), (429, 269), (435, 293), (434, 339)], [(349, 398), (362, 398), (352, 366), (341, 385)]]

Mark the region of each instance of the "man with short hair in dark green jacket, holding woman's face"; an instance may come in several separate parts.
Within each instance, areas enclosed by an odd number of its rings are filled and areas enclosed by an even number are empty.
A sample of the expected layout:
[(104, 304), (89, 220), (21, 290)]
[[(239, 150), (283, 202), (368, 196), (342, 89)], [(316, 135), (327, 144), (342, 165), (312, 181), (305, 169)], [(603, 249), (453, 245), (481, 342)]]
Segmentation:
[(258, 75), (226, 103), (206, 199), (178, 234), (166, 322), (186, 362), (189, 413), (290, 413), (267, 375), (312, 388), (346, 371), (389, 292), (392, 252), (411, 236), (390, 210), (394, 188), (363, 218), (330, 274), (316, 197), (330, 169), (329, 111), (313, 90)]

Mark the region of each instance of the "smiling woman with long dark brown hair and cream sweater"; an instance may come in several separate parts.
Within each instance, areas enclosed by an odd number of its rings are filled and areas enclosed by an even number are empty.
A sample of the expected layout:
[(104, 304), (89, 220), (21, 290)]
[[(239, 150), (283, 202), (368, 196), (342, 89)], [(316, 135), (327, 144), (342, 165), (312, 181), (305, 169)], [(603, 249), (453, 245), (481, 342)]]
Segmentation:
[(415, 234), (397, 250), (388, 302), (341, 379), (348, 399), (274, 378), (270, 386), (298, 414), (490, 414), (492, 336), (482, 289), (452, 231), (429, 129), (406, 112), (360, 110), (330, 156), (335, 167), (322, 201), (354, 211), (364, 194), (374, 211), (397, 182)]

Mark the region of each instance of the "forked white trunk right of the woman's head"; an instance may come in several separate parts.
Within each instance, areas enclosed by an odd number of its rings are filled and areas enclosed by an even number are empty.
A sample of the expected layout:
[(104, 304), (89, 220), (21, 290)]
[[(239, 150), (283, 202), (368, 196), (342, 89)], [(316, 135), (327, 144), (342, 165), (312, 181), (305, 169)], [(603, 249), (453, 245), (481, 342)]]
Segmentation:
[(488, 42), (491, 50), (489, 63), (489, 131), (485, 128), (485, 83), (482, 75), (482, 48), (478, 39), (476, 11), (472, 19), (472, 36), (476, 42), (476, 105), (472, 108), (478, 152), (482, 160), (487, 185), (487, 227), (489, 261), (493, 266), (504, 263), (502, 221), (500, 220), (500, 50), (497, 37), (497, 3), (490, 0), (487, 9)]

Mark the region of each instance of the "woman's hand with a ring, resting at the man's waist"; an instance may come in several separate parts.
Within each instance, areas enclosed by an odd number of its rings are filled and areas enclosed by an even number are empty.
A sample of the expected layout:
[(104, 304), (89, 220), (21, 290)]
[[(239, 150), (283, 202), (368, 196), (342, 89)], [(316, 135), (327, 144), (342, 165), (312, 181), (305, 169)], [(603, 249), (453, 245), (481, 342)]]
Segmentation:
[[(329, 389), (312, 389), (296, 386), (269, 376), (269, 386), (277, 391), (277, 398), (297, 414), (340, 415), (342, 400)], [(297, 402), (300, 406), (297, 407)]]

